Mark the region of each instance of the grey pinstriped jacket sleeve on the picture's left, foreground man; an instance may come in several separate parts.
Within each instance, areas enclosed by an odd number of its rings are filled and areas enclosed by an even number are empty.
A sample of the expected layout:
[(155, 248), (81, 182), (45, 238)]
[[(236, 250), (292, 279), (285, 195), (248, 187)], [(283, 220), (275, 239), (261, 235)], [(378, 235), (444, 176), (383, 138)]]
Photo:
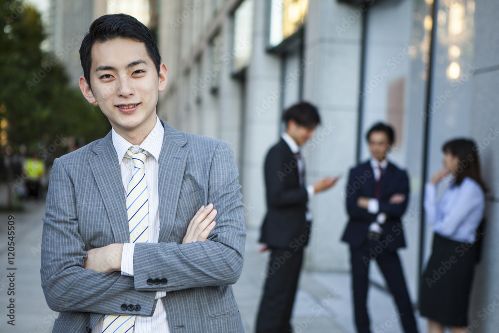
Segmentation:
[(78, 223), (73, 182), (56, 159), (41, 242), (41, 286), (50, 309), (122, 315), (121, 305), (134, 300), (134, 305), (141, 306), (135, 315), (151, 315), (155, 293), (135, 290), (133, 279), (120, 272), (99, 273), (84, 268), (87, 253)]

